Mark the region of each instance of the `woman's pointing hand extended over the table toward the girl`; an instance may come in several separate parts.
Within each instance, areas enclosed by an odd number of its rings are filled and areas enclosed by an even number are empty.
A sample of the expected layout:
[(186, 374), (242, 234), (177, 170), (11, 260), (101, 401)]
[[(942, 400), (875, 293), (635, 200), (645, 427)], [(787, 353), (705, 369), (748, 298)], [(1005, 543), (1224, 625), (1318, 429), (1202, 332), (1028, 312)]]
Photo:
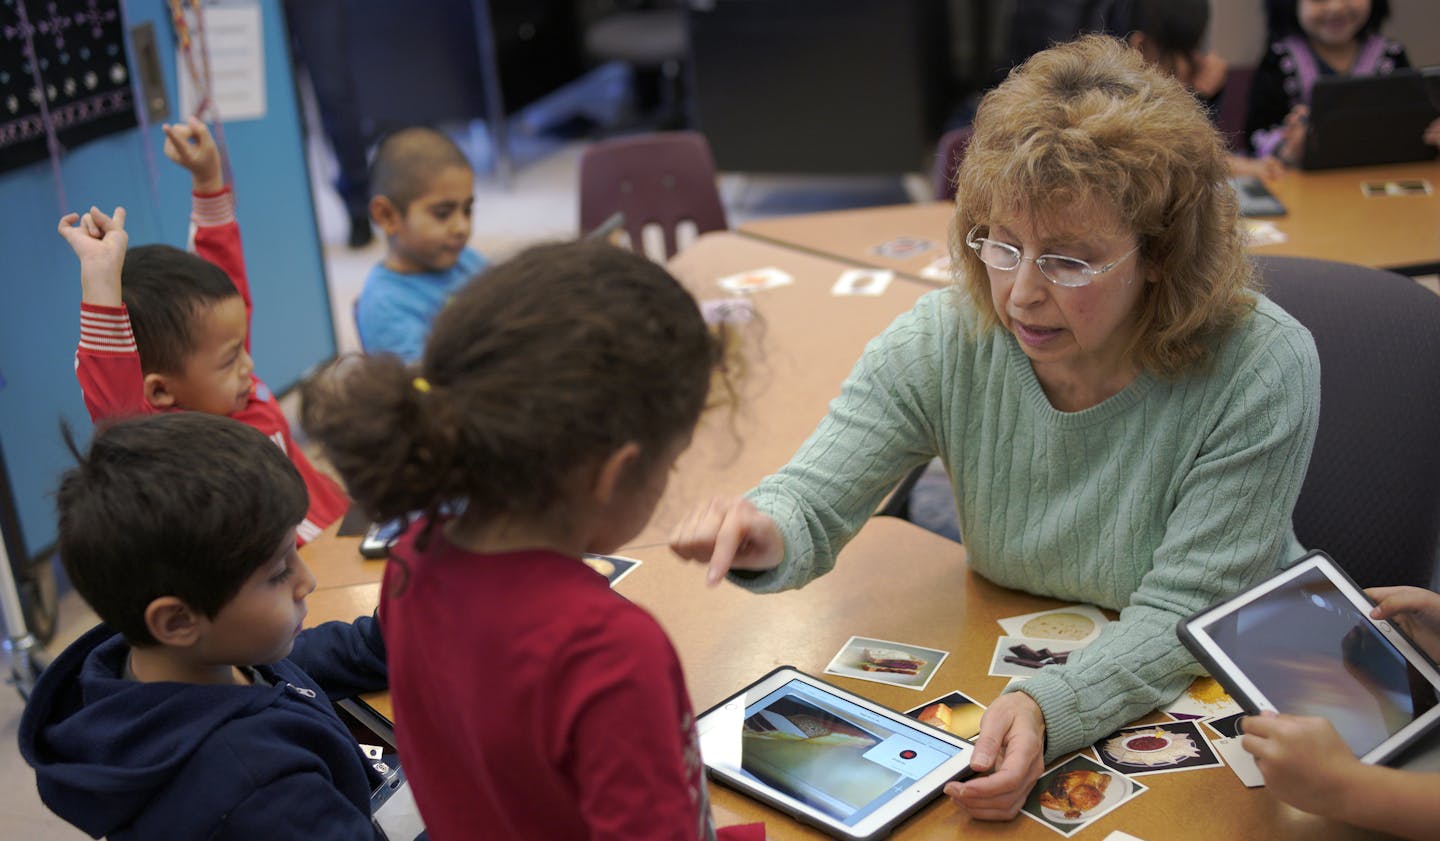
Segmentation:
[(744, 497), (714, 497), (691, 510), (671, 530), (670, 549), (707, 565), (710, 586), (732, 569), (775, 569), (785, 560), (780, 529)]

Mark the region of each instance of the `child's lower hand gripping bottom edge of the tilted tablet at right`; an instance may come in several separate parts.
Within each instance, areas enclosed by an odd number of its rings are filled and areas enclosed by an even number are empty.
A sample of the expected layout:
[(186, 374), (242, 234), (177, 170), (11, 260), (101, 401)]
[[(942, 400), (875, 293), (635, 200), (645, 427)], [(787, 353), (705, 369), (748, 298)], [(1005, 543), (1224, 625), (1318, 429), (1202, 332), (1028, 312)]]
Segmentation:
[(1325, 719), (1261, 713), (1243, 720), (1240, 746), (1256, 757), (1264, 785), (1297, 809), (1335, 817), (1364, 766)]

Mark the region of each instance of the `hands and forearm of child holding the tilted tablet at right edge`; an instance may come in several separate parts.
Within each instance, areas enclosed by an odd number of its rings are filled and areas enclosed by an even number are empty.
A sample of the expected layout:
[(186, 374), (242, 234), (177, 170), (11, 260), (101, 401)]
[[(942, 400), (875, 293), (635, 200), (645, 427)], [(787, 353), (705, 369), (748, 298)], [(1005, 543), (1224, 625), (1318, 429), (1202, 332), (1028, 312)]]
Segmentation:
[[(1371, 616), (1398, 625), (1431, 660), (1440, 657), (1440, 595), (1420, 588), (1372, 588)], [(1261, 713), (1244, 720), (1241, 746), (1256, 757), (1270, 792), (1297, 809), (1390, 832), (1434, 838), (1440, 773), (1365, 765), (1320, 717)]]

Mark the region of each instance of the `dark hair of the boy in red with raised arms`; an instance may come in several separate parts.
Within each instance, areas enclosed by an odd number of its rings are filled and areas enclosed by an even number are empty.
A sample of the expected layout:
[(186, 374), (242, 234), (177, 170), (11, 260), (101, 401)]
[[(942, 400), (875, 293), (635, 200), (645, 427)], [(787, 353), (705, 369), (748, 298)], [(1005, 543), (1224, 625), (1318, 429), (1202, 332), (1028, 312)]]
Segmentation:
[(145, 373), (183, 372), (199, 338), (196, 317), (240, 294), (225, 269), (168, 245), (127, 251), (120, 282)]

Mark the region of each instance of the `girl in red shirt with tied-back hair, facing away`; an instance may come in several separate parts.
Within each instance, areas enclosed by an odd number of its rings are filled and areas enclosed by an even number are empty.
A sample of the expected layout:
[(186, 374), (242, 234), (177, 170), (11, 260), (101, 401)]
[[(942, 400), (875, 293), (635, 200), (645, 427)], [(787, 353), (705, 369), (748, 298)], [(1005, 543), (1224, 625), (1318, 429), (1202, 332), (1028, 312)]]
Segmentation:
[(461, 288), (418, 369), (380, 354), (307, 386), (304, 426), (367, 511), (425, 511), (380, 615), (433, 841), (716, 837), (680, 660), (582, 554), (649, 520), (719, 347), (664, 268), (546, 245)]

